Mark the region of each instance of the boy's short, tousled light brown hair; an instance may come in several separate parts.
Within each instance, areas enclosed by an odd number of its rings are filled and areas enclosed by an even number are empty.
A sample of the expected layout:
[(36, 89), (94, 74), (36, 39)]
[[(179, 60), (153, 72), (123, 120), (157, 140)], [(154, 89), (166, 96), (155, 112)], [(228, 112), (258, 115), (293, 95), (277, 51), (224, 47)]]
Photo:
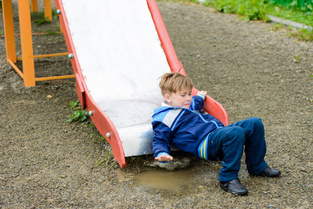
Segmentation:
[(190, 77), (184, 76), (180, 73), (170, 72), (161, 76), (159, 84), (161, 94), (177, 93), (178, 91), (193, 89), (193, 81)]

